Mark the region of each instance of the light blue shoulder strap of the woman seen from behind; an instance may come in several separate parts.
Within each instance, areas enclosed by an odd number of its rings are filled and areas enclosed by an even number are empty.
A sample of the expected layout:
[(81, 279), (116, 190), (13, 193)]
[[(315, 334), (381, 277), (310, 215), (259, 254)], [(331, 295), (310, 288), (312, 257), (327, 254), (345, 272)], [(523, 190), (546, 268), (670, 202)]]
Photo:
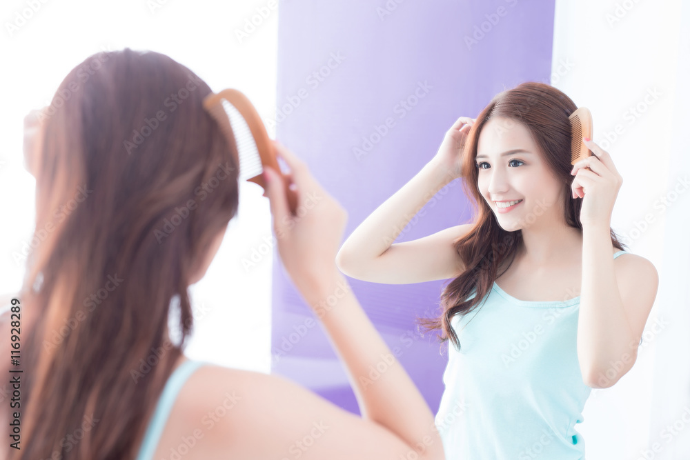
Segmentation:
[(184, 383), (187, 381), (189, 376), (197, 370), (199, 367), (204, 366), (205, 361), (194, 361), (188, 360), (178, 366), (177, 369), (172, 371), (166, 386), (161, 392), (161, 396), (158, 399), (157, 406), (153, 412), (153, 415), (148, 423), (148, 428), (146, 429), (146, 434), (144, 434), (144, 441), (141, 441), (141, 447), (139, 447), (139, 454), (137, 455), (137, 460), (151, 460), (153, 459), (153, 454), (156, 452), (158, 446), (158, 441), (163, 434), (163, 428), (166, 426), (168, 421), (168, 415), (170, 415), (170, 410), (172, 410), (172, 405), (175, 404), (175, 399), (177, 398), (177, 393), (181, 390)]

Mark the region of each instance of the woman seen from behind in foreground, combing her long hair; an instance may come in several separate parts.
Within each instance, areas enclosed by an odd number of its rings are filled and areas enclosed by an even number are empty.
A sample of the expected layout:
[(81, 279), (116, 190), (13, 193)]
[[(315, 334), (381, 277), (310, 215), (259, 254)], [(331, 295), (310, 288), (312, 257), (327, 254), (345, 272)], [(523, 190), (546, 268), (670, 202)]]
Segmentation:
[[(4, 454), (444, 459), (433, 413), (335, 266), (346, 212), (279, 143), (300, 205), (322, 197), (293, 216), (282, 177), (264, 172), (279, 254), (342, 358), (362, 417), (288, 379), (184, 356), (188, 286), (238, 204), (237, 150), (202, 108), (210, 92), (169, 57), (127, 48), (77, 66), (39, 117), (26, 158), (39, 243), (21, 292), (3, 301), (3, 366), (15, 343), (21, 352), (3, 374), (21, 382), (2, 392), (5, 433), (16, 436)], [(179, 343), (168, 335), (171, 308)], [(228, 308), (251, 306), (229, 298)], [(380, 379), (360, 383), (382, 360)]]

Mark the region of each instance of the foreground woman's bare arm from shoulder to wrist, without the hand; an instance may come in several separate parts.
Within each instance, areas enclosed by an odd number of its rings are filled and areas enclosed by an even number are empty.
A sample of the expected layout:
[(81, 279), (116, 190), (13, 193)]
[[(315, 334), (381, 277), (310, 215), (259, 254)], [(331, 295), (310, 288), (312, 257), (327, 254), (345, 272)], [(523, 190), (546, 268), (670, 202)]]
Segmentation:
[[(346, 366), (362, 417), (283, 377), (223, 370), (224, 377), (204, 379), (204, 394), (231, 389), (237, 401), (211, 433), (216, 446), (227, 458), (444, 459), (433, 413), (342, 274), (307, 295)], [(215, 399), (206, 397), (205, 405)]]

